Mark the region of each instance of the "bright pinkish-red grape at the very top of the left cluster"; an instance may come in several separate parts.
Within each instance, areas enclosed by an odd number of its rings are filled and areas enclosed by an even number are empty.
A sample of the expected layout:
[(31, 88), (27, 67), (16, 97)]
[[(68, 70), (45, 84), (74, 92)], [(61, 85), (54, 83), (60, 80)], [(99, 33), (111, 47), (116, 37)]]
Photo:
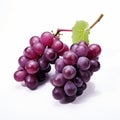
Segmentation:
[(53, 34), (51, 34), (50, 32), (44, 32), (41, 35), (40, 38), (40, 42), (44, 45), (44, 46), (51, 46), (53, 43)]

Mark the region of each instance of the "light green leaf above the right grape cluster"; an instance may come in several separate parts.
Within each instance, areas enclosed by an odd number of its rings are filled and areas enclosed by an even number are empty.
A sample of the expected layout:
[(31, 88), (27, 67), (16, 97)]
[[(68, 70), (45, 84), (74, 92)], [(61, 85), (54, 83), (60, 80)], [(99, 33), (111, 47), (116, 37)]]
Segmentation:
[(89, 25), (86, 21), (77, 21), (72, 28), (72, 40), (73, 43), (85, 41), (89, 43), (88, 35), (90, 34)]

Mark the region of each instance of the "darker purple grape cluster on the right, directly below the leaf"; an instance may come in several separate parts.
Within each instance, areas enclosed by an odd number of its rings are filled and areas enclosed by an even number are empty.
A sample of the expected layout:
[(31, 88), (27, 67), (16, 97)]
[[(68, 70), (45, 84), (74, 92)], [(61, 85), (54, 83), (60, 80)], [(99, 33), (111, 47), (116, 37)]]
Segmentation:
[(53, 97), (68, 103), (80, 96), (93, 72), (100, 68), (100, 53), (101, 47), (98, 44), (88, 45), (81, 41), (73, 44), (63, 57), (59, 57), (55, 62), (56, 73), (51, 78)]

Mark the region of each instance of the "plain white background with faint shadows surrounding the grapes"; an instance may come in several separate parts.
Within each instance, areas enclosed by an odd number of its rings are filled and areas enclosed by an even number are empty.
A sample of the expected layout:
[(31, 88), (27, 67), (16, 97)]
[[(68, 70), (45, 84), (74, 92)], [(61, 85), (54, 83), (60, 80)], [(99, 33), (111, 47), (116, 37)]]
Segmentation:
[[(119, 11), (119, 0), (0, 0), (0, 120), (120, 120)], [(81, 97), (61, 104), (49, 82), (30, 91), (14, 80), (31, 36), (69, 29), (81, 19), (92, 24), (101, 13), (90, 34), (90, 43), (102, 47), (101, 69)], [(61, 39), (70, 45), (71, 33)]]

